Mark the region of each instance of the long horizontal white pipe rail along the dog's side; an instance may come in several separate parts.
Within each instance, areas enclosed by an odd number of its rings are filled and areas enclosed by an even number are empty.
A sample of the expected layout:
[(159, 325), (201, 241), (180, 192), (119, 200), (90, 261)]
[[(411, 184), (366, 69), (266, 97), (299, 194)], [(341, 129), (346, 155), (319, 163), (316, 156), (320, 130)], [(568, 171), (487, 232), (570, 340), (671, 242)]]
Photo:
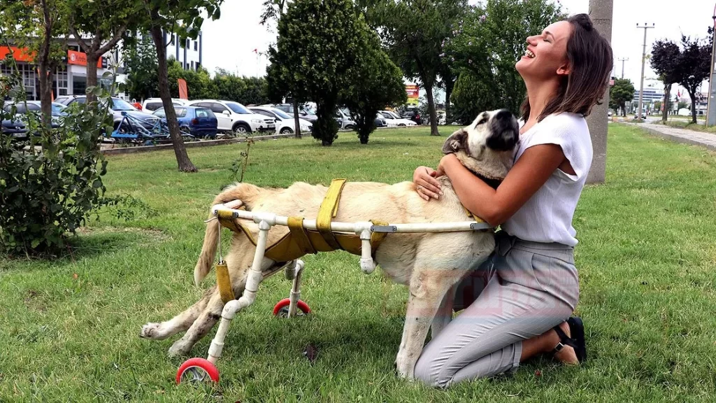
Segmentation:
[[(223, 204), (216, 204), (212, 207), (214, 215), (218, 210), (229, 210), (236, 214), (236, 217), (242, 219), (250, 219), (254, 222), (265, 221), (271, 225), (289, 225), (289, 217), (277, 216), (276, 214), (267, 214), (263, 212), (246, 212), (243, 210), (228, 209)], [(304, 228), (318, 229), (315, 219), (304, 219)], [(331, 230), (333, 232), (353, 232), (360, 234), (362, 231), (362, 222), (331, 222)], [(411, 224), (388, 224), (388, 227), (394, 227), (392, 232), (455, 232), (455, 231), (474, 231), (475, 229), (488, 229), (489, 224), (475, 221), (462, 222), (425, 222)]]

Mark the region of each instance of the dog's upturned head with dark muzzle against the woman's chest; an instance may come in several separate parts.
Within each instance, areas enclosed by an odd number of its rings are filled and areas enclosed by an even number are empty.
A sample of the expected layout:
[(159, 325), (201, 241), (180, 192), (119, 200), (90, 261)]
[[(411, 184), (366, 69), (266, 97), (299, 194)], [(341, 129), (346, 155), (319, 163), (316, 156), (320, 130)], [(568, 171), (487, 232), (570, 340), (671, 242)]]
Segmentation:
[(455, 153), (470, 171), (490, 179), (503, 179), (512, 167), (520, 140), (517, 118), (506, 109), (478, 115), (473, 123), (453, 133), (442, 146), (445, 154)]

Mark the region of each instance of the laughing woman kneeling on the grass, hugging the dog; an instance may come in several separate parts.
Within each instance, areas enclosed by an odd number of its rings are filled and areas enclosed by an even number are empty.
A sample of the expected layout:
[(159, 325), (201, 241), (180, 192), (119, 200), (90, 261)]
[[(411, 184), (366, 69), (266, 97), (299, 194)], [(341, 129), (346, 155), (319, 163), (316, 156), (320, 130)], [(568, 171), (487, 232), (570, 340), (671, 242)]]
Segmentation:
[(527, 38), (516, 64), (527, 87), (523, 126), (498, 189), (454, 154), (437, 171), (415, 170), (425, 200), (440, 196), (435, 177), (447, 175), (470, 212), (502, 228), (493, 255), (458, 288), (456, 308), (463, 298), (474, 302), (425, 346), (417, 379), (445, 387), (514, 370), (537, 354), (553, 352), (566, 364), (586, 359), (584, 326), (569, 318), (579, 300), (571, 221), (592, 158), (584, 117), (604, 94), (611, 67), (611, 46), (589, 16), (551, 24)]

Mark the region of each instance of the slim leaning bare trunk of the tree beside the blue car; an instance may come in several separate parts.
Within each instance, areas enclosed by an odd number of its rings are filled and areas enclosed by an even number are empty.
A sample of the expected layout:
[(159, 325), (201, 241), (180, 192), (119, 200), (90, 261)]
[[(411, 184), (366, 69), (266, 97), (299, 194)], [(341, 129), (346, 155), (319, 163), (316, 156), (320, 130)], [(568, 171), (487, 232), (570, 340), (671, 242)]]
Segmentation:
[[(158, 11), (152, 10), (151, 17), (157, 21), (159, 19)], [(164, 36), (162, 35), (161, 27), (153, 25), (150, 29), (152, 33), (152, 39), (157, 47), (157, 61), (158, 61), (158, 84), (159, 84), (159, 96), (162, 98), (162, 106), (167, 117), (167, 124), (169, 126), (169, 134), (172, 139), (172, 145), (174, 146), (174, 155), (177, 158), (177, 164), (179, 171), (181, 172), (196, 172), (197, 169), (193, 163), (191, 163), (186, 148), (184, 147), (184, 141), (179, 134), (179, 123), (177, 121), (177, 113), (174, 110), (172, 104), (172, 96), (169, 93), (169, 82), (167, 77), (167, 55), (166, 48), (164, 47)]]

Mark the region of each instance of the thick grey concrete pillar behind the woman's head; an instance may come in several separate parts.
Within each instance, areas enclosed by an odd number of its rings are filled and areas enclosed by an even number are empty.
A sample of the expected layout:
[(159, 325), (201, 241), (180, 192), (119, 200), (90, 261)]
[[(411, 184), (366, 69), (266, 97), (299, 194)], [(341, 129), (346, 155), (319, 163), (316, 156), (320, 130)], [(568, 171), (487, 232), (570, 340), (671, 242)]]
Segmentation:
[[(611, 43), (611, 13), (614, 8), (613, 0), (589, 0), (589, 18), (602, 37)], [(591, 146), (594, 148), (594, 158), (591, 169), (586, 178), (588, 184), (604, 182), (606, 172), (606, 129), (609, 109), (609, 90), (604, 94), (601, 105), (595, 105), (591, 114), (586, 118), (591, 134)]]

